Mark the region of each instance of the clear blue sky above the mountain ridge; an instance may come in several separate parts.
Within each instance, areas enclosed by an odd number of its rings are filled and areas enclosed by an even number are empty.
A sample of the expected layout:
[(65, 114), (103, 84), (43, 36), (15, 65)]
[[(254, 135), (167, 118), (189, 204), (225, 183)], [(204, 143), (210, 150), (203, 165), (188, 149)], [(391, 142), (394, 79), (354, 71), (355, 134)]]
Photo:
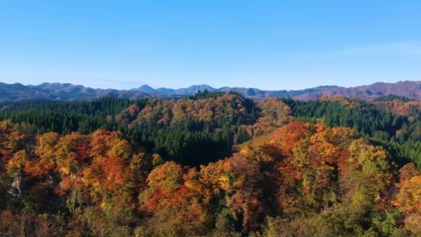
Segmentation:
[(421, 1), (0, 1), (0, 81), (260, 89), (421, 80)]

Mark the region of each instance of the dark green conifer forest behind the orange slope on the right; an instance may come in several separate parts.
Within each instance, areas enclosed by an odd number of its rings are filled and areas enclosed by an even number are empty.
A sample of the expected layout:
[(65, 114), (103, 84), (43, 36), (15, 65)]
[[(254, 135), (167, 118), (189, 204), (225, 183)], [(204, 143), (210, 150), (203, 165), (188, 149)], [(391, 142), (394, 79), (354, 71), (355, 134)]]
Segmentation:
[(384, 104), (364, 100), (282, 100), (291, 107), (292, 115), (299, 121), (353, 128), (358, 134), (387, 148), (398, 164), (413, 161), (421, 167), (421, 110), (418, 107), (410, 106), (402, 114), (395, 113), (393, 107), (389, 111), (381, 106)]

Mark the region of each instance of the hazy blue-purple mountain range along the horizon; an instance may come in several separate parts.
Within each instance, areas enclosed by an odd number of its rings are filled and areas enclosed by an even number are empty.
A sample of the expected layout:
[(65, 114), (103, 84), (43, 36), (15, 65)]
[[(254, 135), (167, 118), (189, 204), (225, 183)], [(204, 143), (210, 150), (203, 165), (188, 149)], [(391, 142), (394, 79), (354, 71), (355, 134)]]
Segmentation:
[(411, 99), (421, 99), (421, 81), (400, 81), (396, 83), (376, 82), (371, 85), (359, 87), (321, 86), (301, 90), (261, 90), (245, 87), (213, 88), (209, 85), (192, 85), (187, 88), (154, 89), (148, 85), (141, 87), (118, 89), (93, 89), (82, 85), (70, 83), (42, 83), (40, 85), (22, 85), (20, 83), (6, 84), (0, 82), (0, 101), (13, 101), (25, 99), (46, 100), (89, 100), (101, 97), (118, 98), (181, 98), (197, 91), (236, 91), (243, 96), (256, 100), (269, 97), (291, 97), (301, 100), (310, 100), (322, 96), (344, 96), (349, 98), (374, 99), (388, 94), (405, 96)]

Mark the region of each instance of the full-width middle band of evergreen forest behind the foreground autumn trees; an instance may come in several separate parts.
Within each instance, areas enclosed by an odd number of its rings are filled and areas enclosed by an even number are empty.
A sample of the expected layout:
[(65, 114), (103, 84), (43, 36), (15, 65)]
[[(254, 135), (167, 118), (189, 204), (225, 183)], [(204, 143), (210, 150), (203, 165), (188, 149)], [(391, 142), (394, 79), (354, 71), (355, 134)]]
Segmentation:
[(28, 132), (89, 134), (119, 131), (135, 146), (165, 160), (199, 166), (229, 156), (233, 147), (292, 121), (355, 129), (393, 154), (397, 164), (421, 165), (421, 104), (397, 96), (375, 102), (346, 98), (253, 101), (235, 92), (199, 93), (179, 100), (102, 98), (24, 100), (0, 105), (0, 119)]

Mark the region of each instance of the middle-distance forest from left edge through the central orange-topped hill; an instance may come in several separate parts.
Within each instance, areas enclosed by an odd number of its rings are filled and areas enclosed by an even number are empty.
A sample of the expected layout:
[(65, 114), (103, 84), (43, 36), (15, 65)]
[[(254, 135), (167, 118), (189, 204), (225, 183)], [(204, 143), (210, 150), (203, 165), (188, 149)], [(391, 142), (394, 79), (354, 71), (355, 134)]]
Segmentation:
[(119, 131), (135, 146), (159, 153), (166, 160), (199, 166), (229, 156), (233, 146), (249, 141), (254, 134), (271, 132), (285, 124), (278, 121), (285, 113), (276, 113), (276, 109), (285, 110), (283, 104), (266, 104), (262, 103), (261, 109), (238, 93), (206, 90), (179, 100), (25, 100), (0, 105), (0, 120), (24, 124), (28, 132), (37, 134)]

